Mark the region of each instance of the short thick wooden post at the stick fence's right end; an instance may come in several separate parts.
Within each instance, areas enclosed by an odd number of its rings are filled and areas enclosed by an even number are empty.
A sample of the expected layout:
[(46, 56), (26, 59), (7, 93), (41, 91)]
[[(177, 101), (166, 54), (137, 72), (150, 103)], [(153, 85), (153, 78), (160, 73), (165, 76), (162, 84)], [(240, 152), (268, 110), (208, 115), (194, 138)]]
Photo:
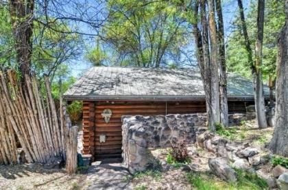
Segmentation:
[(68, 128), (66, 144), (66, 169), (68, 174), (75, 174), (77, 171), (77, 133), (78, 126)]

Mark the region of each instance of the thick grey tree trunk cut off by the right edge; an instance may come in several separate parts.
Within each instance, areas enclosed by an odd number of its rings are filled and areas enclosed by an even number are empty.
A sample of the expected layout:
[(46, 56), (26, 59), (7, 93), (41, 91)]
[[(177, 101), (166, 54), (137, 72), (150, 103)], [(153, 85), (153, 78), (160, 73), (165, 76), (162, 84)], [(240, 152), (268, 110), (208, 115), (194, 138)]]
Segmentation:
[(270, 150), (288, 157), (288, 0), (285, 1), (285, 11), (285, 26), (278, 42), (276, 124)]

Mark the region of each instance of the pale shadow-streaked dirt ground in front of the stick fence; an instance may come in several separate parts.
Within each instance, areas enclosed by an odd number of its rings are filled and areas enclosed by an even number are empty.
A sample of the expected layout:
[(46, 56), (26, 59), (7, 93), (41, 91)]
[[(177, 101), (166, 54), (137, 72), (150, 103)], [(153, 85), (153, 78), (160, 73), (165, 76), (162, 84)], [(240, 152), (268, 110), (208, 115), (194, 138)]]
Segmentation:
[(43, 169), (36, 165), (0, 165), (0, 189), (75, 189), (84, 174), (67, 175), (64, 169)]

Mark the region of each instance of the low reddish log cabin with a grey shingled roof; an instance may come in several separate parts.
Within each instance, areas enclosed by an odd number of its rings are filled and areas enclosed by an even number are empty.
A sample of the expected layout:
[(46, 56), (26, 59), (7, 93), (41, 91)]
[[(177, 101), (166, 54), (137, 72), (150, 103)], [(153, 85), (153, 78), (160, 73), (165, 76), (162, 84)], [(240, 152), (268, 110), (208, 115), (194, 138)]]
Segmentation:
[[(268, 96), (269, 88), (264, 87)], [(83, 101), (83, 150), (94, 159), (121, 157), (121, 116), (206, 112), (199, 68), (90, 68), (64, 94)], [(252, 81), (228, 74), (228, 111), (254, 105)]]

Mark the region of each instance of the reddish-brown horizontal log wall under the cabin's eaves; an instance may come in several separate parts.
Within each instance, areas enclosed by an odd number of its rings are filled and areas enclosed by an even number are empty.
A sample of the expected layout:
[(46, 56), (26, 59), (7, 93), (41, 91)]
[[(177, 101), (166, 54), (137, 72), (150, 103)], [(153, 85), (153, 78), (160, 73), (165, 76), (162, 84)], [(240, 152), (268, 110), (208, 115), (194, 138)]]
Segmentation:
[[(229, 102), (230, 112), (245, 112), (250, 102)], [(122, 131), (121, 116), (155, 116), (167, 114), (204, 113), (204, 101), (183, 102), (110, 102), (98, 101), (83, 103), (84, 154), (93, 154), (95, 159), (121, 157)], [(106, 123), (101, 116), (104, 109), (110, 109), (112, 116)], [(106, 142), (99, 142), (99, 135), (106, 135)]]

